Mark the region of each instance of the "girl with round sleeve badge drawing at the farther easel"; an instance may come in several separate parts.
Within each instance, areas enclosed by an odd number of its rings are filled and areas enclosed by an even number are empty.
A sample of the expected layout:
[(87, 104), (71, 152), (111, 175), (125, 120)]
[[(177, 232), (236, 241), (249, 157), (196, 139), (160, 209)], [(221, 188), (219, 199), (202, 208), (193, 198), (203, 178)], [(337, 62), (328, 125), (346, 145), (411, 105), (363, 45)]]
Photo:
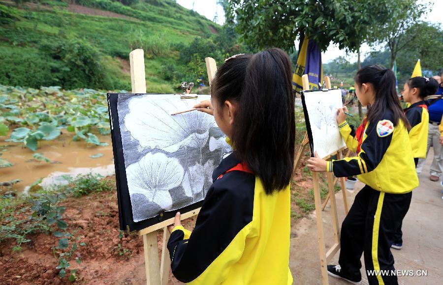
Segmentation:
[(339, 265), (328, 265), (328, 273), (360, 284), (360, 257), (364, 253), (369, 284), (398, 284), (391, 271), (394, 257), (390, 247), (408, 212), (411, 191), (418, 186), (410, 126), (391, 70), (378, 65), (364, 67), (357, 72), (354, 86), (362, 105), (370, 105), (368, 114), (356, 131), (345, 120), (346, 107), (339, 110), (337, 121), (348, 148), (357, 156), (330, 162), (308, 160), (313, 171), (330, 171), (337, 177), (357, 175), (366, 184), (343, 221)]

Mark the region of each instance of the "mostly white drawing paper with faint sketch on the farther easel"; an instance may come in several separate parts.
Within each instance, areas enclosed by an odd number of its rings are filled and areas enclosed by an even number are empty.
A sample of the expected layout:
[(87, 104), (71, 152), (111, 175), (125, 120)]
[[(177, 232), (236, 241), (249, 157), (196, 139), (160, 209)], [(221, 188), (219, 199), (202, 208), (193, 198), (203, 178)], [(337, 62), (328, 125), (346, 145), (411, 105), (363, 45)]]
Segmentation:
[(305, 92), (314, 151), (324, 158), (346, 146), (337, 124), (338, 108), (343, 107), (340, 89), (327, 92)]

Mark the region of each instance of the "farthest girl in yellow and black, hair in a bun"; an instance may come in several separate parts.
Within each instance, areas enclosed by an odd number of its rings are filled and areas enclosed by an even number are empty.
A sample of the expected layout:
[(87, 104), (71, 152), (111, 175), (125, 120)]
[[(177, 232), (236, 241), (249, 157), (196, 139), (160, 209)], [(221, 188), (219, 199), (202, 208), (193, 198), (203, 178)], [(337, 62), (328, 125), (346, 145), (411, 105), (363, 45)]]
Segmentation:
[[(438, 83), (434, 78), (413, 77), (403, 86), (403, 100), (411, 104), (405, 109), (406, 117), (411, 124), (409, 140), (412, 147), (412, 156), (415, 167), (419, 158), (426, 158), (429, 128), (428, 102), (424, 99), (435, 94)], [(403, 247), (402, 224), (394, 235), (392, 248), (400, 250)]]

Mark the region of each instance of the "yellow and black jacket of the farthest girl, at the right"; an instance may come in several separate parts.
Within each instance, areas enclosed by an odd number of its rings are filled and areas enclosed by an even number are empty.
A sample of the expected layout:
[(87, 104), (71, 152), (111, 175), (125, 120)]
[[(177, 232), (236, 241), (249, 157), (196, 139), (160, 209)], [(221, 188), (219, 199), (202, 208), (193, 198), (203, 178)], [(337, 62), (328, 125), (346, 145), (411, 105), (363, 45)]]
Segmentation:
[(428, 144), (429, 113), (425, 101), (412, 104), (405, 109), (406, 117), (411, 124), (409, 140), (414, 158), (426, 158)]

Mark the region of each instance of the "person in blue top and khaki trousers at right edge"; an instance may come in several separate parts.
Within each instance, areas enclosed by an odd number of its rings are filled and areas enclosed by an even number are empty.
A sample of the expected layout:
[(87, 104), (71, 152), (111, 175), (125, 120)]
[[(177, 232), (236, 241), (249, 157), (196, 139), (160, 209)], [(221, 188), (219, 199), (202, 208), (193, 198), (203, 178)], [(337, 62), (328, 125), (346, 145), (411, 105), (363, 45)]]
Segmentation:
[[(440, 72), (440, 84), (435, 95), (428, 96), (428, 111), (429, 111), (429, 133), (428, 133), (428, 147), (432, 146), (434, 148), (434, 159), (432, 160), (430, 176), (431, 181), (439, 181), (442, 176), (443, 169), (443, 153), (442, 144), (440, 144), (441, 133), (439, 130), (440, 123), (442, 121), (443, 115), (443, 86), (442, 86), (443, 70)], [(438, 82), (438, 81), (437, 81)], [(427, 154), (426, 152), (426, 154)], [(421, 158), (418, 160), (417, 173), (421, 173), (423, 170), (423, 165), (426, 159)]]

